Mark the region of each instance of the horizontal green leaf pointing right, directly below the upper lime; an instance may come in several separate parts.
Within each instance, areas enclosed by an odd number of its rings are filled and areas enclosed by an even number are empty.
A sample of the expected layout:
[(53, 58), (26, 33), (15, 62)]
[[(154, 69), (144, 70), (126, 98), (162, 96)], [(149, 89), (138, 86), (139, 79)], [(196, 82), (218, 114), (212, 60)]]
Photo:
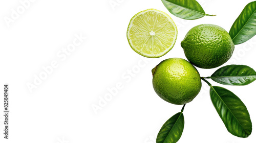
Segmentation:
[(224, 85), (247, 85), (256, 80), (256, 71), (246, 65), (227, 65), (207, 78)]

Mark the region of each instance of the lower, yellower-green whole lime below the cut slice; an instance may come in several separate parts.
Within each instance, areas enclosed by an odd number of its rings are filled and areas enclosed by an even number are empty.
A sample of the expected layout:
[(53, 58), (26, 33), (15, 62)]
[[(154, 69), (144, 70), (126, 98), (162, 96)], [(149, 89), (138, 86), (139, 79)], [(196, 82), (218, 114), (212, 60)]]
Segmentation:
[(181, 58), (170, 58), (152, 69), (153, 87), (160, 98), (177, 105), (191, 102), (201, 90), (197, 69)]

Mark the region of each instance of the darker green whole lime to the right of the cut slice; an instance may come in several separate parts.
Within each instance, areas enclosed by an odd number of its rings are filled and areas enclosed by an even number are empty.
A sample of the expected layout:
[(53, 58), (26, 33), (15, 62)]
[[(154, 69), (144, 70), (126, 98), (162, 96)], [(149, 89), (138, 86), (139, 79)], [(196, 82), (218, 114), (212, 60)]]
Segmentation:
[(190, 29), (181, 46), (188, 61), (200, 68), (215, 68), (224, 64), (234, 50), (234, 43), (226, 30), (206, 24)]

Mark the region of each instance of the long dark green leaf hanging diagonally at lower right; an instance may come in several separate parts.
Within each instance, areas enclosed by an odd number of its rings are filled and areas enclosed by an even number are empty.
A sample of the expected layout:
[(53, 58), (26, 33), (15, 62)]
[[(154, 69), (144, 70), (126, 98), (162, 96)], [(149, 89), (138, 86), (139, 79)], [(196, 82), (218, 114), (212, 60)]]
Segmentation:
[(248, 137), (252, 131), (249, 112), (244, 103), (231, 91), (210, 87), (212, 104), (220, 115), (227, 130), (238, 137)]

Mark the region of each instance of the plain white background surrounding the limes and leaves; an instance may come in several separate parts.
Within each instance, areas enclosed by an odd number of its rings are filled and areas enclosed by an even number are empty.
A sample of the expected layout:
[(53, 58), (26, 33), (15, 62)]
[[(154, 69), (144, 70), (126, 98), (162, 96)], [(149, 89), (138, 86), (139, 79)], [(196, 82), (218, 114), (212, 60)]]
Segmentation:
[[(110, 2), (118, 5), (112, 6)], [(155, 142), (164, 122), (182, 106), (169, 104), (157, 96), (151, 69), (167, 58), (186, 59), (180, 42), (194, 26), (211, 23), (229, 31), (251, 1), (198, 2), (207, 14), (217, 16), (180, 19), (170, 14), (160, 0), (37, 0), (8, 23), (5, 19), (11, 18), (12, 9), (22, 10), (23, 6), (20, 1), (1, 1), (0, 90), (3, 93), (3, 85), (9, 84), (10, 125), (7, 140), (2, 134), (2, 94), (0, 142)], [(138, 55), (126, 39), (130, 19), (149, 8), (168, 13), (178, 27), (174, 48), (157, 59)], [(80, 34), (87, 39), (69, 52), (66, 59), (57, 56)], [(255, 47), (255, 37), (236, 45), (232, 58), (224, 65), (244, 64), (256, 69)], [(27, 85), (34, 84), (34, 76), (44, 73), (42, 67), (50, 66), (53, 61), (58, 66), (30, 92)], [(204, 77), (217, 69), (198, 68)], [(185, 127), (179, 143), (255, 142), (256, 82), (247, 86), (224, 86), (208, 81), (231, 90), (244, 102), (250, 113), (252, 134), (239, 138), (226, 130), (210, 101), (209, 87), (203, 82), (197, 98), (184, 109)], [(121, 84), (121, 89), (101, 110), (94, 111), (92, 106), (99, 106), (100, 99), (109, 95), (108, 88), (113, 89), (116, 84)]]

